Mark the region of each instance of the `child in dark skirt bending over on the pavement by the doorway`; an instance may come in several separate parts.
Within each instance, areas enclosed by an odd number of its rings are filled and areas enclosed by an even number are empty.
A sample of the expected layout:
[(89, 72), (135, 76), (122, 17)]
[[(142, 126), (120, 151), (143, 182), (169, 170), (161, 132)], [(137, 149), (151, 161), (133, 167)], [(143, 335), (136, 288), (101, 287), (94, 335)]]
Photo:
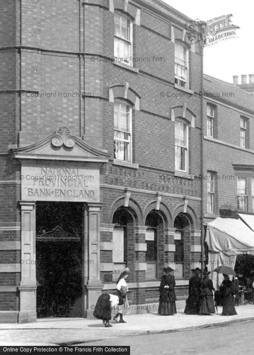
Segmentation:
[(109, 323), (111, 319), (111, 310), (118, 304), (123, 304), (123, 299), (121, 297), (103, 293), (96, 302), (93, 316), (98, 319), (102, 319), (106, 328), (112, 327), (112, 325)]

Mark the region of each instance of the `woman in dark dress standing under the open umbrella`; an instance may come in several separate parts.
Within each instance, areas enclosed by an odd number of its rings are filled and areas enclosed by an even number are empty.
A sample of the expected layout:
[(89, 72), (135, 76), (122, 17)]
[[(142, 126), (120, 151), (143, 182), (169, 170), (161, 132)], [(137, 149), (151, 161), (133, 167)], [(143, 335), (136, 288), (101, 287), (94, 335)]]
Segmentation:
[(224, 281), (221, 283), (219, 291), (223, 298), (223, 312), (221, 315), (235, 315), (235, 289), (233, 283), (230, 281), (229, 276), (223, 274)]

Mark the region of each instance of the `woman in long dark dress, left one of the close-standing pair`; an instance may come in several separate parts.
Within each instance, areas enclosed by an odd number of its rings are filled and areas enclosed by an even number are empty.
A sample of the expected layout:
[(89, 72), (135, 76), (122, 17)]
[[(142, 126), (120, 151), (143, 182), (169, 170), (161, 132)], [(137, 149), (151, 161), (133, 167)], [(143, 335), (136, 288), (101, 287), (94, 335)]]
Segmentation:
[(194, 276), (189, 279), (189, 295), (186, 300), (186, 306), (184, 313), (186, 314), (198, 314), (200, 306), (201, 295), (201, 269), (196, 267), (193, 271)]

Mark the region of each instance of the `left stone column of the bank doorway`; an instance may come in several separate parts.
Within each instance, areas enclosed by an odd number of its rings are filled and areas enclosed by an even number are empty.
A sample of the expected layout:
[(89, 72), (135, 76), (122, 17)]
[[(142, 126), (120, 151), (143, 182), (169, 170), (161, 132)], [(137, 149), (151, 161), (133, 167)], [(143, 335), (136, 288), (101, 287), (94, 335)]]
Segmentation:
[(21, 280), (18, 323), (36, 321), (36, 212), (35, 202), (20, 201)]

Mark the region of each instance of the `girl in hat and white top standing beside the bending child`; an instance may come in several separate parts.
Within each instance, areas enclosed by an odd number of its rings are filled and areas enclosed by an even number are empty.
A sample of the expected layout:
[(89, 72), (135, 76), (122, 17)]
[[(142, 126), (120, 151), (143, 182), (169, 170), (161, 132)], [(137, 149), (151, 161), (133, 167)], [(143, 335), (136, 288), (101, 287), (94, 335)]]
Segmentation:
[(123, 298), (123, 304), (120, 307), (115, 307), (115, 311), (117, 311), (117, 313), (113, 318), (114, 321), (117, 321), (118, 316), (120, 316), (119, 323), (126, 323), (123, 320), (122, 315), (130, 313), (130, 305), (127, 298), (128, 285), (126, 283), (126, 279), (128, 278), (129, 273), (130, 269), (129, 267), (126, 267), (116, 282), (117, 295)]

